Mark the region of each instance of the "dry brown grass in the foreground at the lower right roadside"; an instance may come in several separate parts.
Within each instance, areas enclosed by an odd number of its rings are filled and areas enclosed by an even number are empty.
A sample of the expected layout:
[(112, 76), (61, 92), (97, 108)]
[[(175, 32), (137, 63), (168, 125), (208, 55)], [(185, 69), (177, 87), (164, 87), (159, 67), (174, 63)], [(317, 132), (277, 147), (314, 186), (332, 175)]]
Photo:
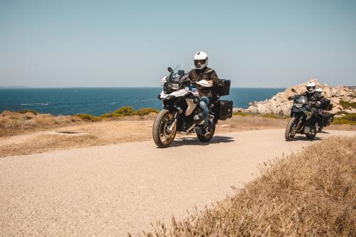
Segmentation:
[(145, 236), (356, 236), (356, 137), (331, 137), (261, 167), (261, 177)]

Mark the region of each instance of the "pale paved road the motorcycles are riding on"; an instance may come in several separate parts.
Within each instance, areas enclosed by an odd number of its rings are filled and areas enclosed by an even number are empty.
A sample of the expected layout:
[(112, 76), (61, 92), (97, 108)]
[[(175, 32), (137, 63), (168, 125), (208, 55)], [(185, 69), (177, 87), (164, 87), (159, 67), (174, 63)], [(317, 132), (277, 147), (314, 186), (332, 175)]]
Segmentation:
[[(356, 132), (328, 131), (330, 135)], [(192, 137), (0, 158), (0, 236), (126, 236), (182, 218), (251, 181), (257, 165), (313, 144), (284, 130)]]

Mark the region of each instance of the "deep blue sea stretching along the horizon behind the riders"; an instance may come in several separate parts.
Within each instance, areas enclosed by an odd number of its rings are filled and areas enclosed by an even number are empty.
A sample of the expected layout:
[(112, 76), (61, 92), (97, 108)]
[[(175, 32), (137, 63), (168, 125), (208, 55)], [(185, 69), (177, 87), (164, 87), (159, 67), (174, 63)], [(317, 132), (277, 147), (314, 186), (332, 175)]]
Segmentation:
[[(234, 107), (248, 107), (248, 102), (272, 98), (286, 88), (230, 88)], [(122, 106), (135, 110), (144, 107), (162, 108), (157, 95), (162, 88), (1, 88), (0, 112), (4, 110), (36, 110), (52, 115), (88, 113), (102, 115)]]

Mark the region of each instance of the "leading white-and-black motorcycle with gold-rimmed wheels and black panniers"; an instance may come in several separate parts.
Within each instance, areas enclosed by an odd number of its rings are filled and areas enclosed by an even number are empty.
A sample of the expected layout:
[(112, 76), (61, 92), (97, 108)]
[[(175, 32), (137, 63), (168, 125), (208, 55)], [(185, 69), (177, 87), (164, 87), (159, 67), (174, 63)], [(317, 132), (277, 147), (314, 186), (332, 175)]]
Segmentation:
[[(192, 88), (188, 70), (177, 66), (168, 68), (169, 75), (162, 78), (162, 92), (158, 99), (162, 100), (163, 109), (155, 118), (152, 137), (157, 147), (168, 147), (177, 132), (189, 134), (195, 132), (201, 142), (209, 142), (214, 136), (218, 120), (232, 117), (233, 103), (230, 100), (219, 100), (221, 96), (229, 95), (230, 80), (220, 80), (216, 88), (216, 100), (209, 105), (209, 120), (206, 125), (199, 106), (199, 93)], [(210, 87), (209, 84), (199, 84)]]

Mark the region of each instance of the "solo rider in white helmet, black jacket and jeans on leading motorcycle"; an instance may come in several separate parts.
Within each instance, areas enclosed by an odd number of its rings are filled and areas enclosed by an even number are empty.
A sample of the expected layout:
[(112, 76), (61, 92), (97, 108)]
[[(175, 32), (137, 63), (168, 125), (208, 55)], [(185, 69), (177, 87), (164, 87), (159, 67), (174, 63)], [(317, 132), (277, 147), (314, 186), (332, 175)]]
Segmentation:
[[(208, 68), (208, 55), (199, 51), (194, 55), (195, 69), (190, 70), (189, 78), (192, 85), (196, 86), (199, 92), (202, 115), (204, 116), (205, 125), (211, 125), (212, 121), (209, 119), (209, 105), (216, 99), (215, 88), (218, 83), (218, 75), (215, 70)], [(199, 80), (206, 80), (212, 87), (202, 87), (198, 85)]]

